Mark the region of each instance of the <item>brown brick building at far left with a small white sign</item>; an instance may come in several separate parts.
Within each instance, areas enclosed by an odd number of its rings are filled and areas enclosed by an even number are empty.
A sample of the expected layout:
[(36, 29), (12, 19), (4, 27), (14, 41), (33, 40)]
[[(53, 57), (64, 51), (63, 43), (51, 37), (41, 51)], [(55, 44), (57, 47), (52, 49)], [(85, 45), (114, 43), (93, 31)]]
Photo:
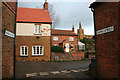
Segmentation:
[[(14, 0), (16, 1), (16, 0)], [(1, 3), (2, 11), (2, 27), (0, 40), (0, 63), (2, 63), (2, 70), (0, 70), (0, 77), (13, 78), (14, 77), (14, 41), (15, 41), (15, 19), (17, 2)], [(2, 48), (2, 49), (1, 49)]]

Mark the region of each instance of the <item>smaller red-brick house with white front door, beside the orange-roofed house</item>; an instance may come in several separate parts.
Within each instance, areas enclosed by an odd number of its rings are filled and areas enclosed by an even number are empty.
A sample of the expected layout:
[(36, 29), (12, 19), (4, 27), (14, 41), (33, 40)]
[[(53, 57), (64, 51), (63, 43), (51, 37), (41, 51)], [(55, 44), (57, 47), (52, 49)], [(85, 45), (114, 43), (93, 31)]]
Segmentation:
[(71, 30), (52, 29), (52, 45), (61, 46), (65, 52), (78, 51), (78, 35)]

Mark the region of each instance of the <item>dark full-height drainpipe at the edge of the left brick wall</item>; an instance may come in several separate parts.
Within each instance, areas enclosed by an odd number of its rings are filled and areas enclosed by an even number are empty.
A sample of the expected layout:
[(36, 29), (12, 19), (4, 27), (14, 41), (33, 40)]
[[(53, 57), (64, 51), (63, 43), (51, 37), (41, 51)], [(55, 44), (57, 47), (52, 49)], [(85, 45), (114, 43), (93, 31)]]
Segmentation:
[(15, 34), (15, 37), (14, 37), (14, 55), (13, 55), (13, 59), (14, 59), (14, 61), (13, 61), (13, 64), (14, 64), (14, 71), (13, 71), (13, 77), (14, 77), (14, 80), (15, 80), (15, 77), (16, 77), (16, 75), (15, 75), (15, 69), (16, 69), (16, 23), (17, 23), (17, 0), (16, 0), (16, 11), (15, 11), (15, 25), (14, 25), (14, 34)]

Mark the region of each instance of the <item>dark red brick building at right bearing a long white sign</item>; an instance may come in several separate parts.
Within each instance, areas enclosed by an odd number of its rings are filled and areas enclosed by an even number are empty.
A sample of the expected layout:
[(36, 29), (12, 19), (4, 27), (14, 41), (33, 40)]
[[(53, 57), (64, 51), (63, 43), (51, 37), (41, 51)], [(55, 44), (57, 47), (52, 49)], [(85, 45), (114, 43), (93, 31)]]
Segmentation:
[(120, 79), (120, 2), (94, 2), (97, 76)]

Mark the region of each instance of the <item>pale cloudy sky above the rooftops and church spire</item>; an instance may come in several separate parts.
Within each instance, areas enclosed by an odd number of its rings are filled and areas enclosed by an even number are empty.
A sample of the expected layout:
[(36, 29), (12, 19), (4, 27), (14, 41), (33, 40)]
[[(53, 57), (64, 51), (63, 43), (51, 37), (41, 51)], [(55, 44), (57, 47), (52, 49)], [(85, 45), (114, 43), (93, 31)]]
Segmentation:
[[(18, 0), (18, 7), (43, 8), (45, 0)], [(72, 30), (74, 25), (75, 32), (81, 22), (86, 35), (94, 35), (93, 13), (90, 10), (90, 4), (94, 2), (89, 0), (48, 0), (48, 4), (53, 5), (55, 15), (59, 17), (59, 22), (55, 29)]]

